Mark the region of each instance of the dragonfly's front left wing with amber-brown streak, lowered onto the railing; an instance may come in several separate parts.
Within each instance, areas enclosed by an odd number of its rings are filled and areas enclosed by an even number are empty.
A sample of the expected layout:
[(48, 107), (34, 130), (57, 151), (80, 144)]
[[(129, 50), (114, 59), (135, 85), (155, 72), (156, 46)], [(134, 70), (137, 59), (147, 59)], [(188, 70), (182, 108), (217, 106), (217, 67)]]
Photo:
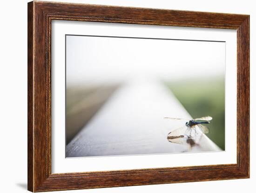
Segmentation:
[(188, 132), (187, 126), (182, 126), (180, 128), (175, 129), (168, 133), (167, 139), (169, 142), (178, 143), (178, 144), (185, 144), (186, 143), (186, 133)]

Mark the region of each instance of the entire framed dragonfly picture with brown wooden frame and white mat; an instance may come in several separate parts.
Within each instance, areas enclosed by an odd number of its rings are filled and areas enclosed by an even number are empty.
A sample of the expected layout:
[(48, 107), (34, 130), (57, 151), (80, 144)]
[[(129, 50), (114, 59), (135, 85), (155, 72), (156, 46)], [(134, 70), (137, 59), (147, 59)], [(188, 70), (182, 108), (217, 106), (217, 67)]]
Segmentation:
[(249, 178), (249, 15), (28, 3), (28, 190)]

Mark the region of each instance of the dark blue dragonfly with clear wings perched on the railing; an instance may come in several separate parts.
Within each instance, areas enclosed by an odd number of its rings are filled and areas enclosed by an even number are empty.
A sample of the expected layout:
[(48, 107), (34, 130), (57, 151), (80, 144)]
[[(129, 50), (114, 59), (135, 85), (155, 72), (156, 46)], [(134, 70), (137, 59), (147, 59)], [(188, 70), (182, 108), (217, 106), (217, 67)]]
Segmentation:
[[(202, 133), (209, 133), (209, 128), (203, 124), (209, 124), (212, 117), (206, 116), (196, 119), (181, 119), (181, 118), (171, 118), (165, 117), (165, 119), (172, 120), (184, 120), (186, 124), (182, 127), (175, 129), (168, 133), (167, 139), (170, 142), (184, 144), (188, 143), (188, 139), (191, 140), (196, 137), (198, 134), (197, 130), (199, 129)], [(194, 132), (193, 132), (194, 131)], [(193, 135), (192, 135), (193, 134)]]

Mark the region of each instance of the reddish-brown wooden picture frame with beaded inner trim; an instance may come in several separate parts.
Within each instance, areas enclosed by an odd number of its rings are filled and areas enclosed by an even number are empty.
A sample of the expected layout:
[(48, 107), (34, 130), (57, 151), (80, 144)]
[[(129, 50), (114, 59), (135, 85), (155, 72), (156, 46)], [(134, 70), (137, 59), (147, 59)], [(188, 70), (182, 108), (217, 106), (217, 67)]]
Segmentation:
[[(52, 174), (52, 20), (236, 29), (237, 164)], [(27, 43), (29, 191), (249, 178), (249, 15), (32, 1)]]

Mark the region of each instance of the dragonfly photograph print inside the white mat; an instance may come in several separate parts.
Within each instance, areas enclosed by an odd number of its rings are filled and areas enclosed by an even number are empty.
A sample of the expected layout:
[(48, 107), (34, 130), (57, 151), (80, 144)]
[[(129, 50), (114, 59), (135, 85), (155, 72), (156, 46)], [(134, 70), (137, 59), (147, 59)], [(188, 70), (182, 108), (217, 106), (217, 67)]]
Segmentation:
[(225, 150), (225, 42), (66, 34), (66, 158)]

